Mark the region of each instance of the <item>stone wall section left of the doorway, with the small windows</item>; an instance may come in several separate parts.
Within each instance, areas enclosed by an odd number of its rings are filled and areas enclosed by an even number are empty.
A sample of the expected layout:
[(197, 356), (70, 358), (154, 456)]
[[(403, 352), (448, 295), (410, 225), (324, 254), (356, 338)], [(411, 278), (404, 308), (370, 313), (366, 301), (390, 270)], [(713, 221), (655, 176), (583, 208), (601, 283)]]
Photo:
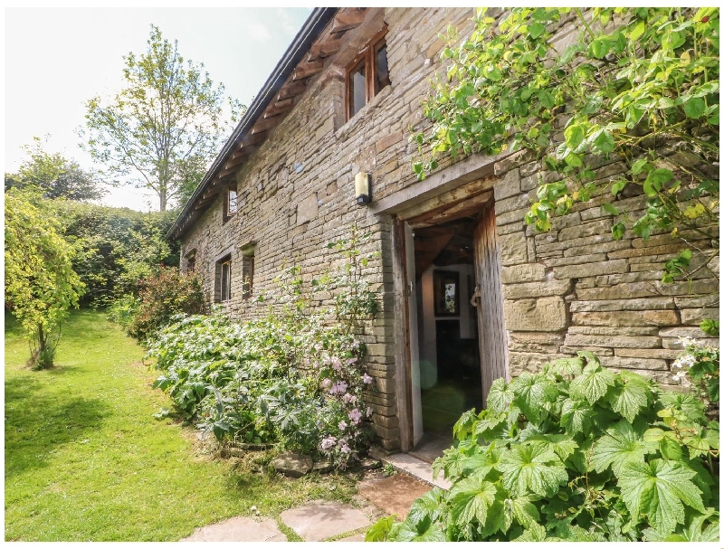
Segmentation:
[[(364, 274), (379, 295), (381, 308), (360, 338), (367, 345), (369, 374), (376, 378), (376, 392), (369, 397), (376, 431), (388, 450), (398, 448), (400, 438), (391, 220), (357, 206), (354, 178), (359, 171), (370, 173), (375, 198), (414, 184), (410, 168), (414, 148), (407, 130), (421, 119), (420, 101), (429, 89), (428, 79), (439, 69), (435, 59), (443, 41), (438, 34), (448, 23), (471, 28), (472, 14), (472, 8), (387, 8), (392, 85), (346, 121), (343, 68), (327, 67), (240, 170), (238, 213), (224, 222), (220, 196), (183, 238), (182, 256), (195, 250), (195, 269), (203, 276), (210, 300), (215, 263), (231, 253), (232, 299), (224, 308), (243, 319), (268, 310), (256, 298), (276, 289), (273, 279), (284, 265), (299, 265), (309, 280), (341, 265), (343, 258), (326, 244), (348, 235), (353, 223), (372, 233), (367, 250), (378, 251), (379, 257)], [(241, 249), (250, 242), (256, 242), (253, 291), (251, 298), (243, 299)], [(323, 304), (325, 296), (319, 298), (318, 304)]]

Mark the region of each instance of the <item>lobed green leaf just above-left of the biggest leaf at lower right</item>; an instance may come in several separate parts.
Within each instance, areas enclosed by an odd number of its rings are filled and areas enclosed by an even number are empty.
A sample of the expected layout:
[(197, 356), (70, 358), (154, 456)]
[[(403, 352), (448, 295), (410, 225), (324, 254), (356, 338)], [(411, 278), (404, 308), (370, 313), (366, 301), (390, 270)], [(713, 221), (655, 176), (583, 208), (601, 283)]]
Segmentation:
[(644, 463), (647, 454), (654, 453), (656, 445), (644, 442), (641, 432), (622, 420), (605, 431), (591, 450), (591, 467), (602, 473), (610, 466), (616, 477), (621, 475), (625, 463)]

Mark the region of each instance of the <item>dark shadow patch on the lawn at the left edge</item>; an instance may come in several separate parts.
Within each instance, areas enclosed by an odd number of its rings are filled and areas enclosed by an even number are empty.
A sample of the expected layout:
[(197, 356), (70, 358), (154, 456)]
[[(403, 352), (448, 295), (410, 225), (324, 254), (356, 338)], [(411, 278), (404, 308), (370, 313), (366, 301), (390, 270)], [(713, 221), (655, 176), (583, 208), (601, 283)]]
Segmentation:
[(25, 377), (5, 380), (5, 479), (45, 467), (54, 450), (80, 443), (110, 414), (100, 399), (43, 395), (39, 386)]

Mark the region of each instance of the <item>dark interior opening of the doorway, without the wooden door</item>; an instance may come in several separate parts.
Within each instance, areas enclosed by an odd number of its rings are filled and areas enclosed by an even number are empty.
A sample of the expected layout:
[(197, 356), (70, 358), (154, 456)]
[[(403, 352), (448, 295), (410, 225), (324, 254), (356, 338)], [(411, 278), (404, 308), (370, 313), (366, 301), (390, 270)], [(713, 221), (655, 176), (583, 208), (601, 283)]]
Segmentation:
[[(465, 217), (414, 230), (417, 346), (423, 439), (418, 452), (447, 448), (462, 412), (482, 406), (473, 231)], [(436, 453), (436, 452), (435, 452)]]

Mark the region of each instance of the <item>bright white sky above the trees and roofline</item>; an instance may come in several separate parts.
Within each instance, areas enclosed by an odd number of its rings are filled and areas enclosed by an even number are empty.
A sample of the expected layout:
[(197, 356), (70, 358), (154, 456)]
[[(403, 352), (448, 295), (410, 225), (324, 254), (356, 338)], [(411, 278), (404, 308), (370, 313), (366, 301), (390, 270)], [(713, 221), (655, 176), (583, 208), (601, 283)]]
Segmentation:
[[(5, 172), (21, 147), (48, 137), (45, 150), (92, 169), (79, 147), (86, 100), (123, 86), (123, 56), (146, 52), (150, 25), (178, 41), (186, 59), (203, 62), (226, 95), (250, 104), (310, 14), (310, 8), (5, 8)], [(148, 212), (157, 197), (110, 189), (104, 204)]]

